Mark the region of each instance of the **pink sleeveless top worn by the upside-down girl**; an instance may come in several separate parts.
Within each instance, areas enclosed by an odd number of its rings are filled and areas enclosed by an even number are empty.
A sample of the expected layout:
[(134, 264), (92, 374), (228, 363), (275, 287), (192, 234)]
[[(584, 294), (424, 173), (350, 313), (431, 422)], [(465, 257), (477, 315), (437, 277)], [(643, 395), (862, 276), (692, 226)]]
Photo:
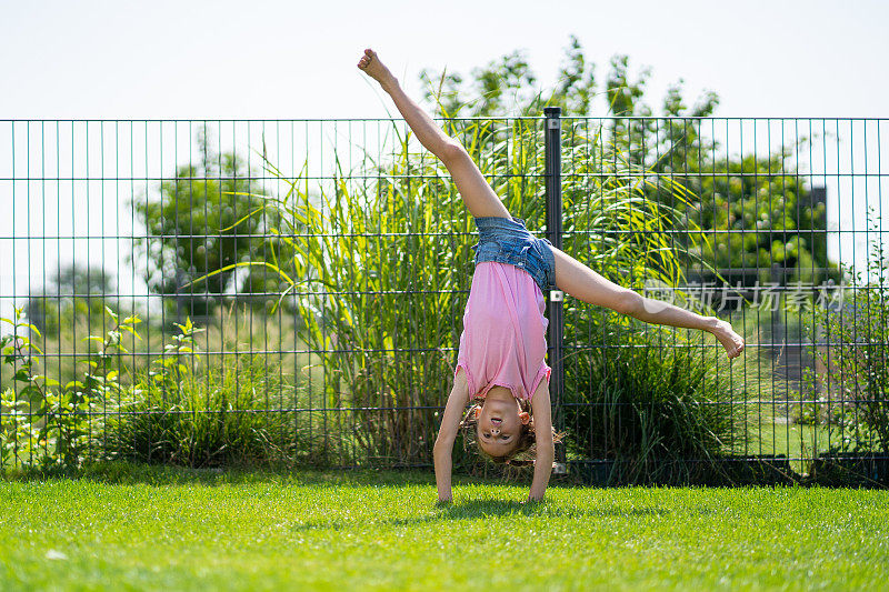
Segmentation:
[(543, 310), (543, 294), (525, 270), (493, 261), (476, 265), (455, 370), (466, 372), (471, 397), (499, 385), (530, 401), (540, 381), (549, 380)]

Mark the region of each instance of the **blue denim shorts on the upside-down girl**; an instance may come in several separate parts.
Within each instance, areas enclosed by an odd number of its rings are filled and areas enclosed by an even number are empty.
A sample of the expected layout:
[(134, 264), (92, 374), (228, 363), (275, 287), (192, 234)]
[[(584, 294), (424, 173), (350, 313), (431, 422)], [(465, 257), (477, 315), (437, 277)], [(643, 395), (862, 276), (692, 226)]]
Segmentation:
[(547, 239), (536, 239), (521, 218), (486, 217), (476, 218), (479, 229), (479, 242), (476, 251), (476, 264), (486, 261), (509, 263), (523, 269), (533, 278), (540, 291), (556, 289), (556, 258), (552, 255), (552, 243)]

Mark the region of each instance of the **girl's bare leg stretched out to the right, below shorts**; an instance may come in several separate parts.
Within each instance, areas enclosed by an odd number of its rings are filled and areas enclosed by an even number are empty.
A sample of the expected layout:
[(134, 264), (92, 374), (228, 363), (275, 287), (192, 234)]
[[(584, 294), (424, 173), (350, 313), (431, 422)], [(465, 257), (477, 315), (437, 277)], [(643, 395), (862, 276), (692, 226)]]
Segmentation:
[(743, 338), (736, 333), (728, 322), (716, 317), (702, 317), (669, 302), (645, 298), (610, 282), (559, 249), (552, 248), (552, 254), (556, 258), (556, 285), (572, 297), (629, 314), (647, 323), (708, 331), (722, 343), (729, 359), (737, 358), (743, 351)]

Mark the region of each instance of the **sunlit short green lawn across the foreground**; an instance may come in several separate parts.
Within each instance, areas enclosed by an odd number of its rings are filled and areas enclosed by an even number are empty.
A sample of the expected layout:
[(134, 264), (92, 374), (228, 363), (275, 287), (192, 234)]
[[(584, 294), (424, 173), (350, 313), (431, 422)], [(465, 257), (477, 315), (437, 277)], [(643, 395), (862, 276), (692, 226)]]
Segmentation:
[(889, 492), (111, 465), (0, 481), (0, 590), (887, 589)]

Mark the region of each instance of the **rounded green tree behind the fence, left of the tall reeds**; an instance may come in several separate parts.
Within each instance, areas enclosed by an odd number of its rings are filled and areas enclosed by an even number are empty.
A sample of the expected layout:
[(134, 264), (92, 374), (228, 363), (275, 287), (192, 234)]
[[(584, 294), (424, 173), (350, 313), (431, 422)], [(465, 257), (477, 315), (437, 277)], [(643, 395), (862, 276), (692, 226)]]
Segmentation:
[(273, 298), (280, 291), (274, 274), (244, 274), (244, 268), (236, 273), (237, 263), (266, 255), (268, 229), (278, 224), (270, 218), (274, 212), (264, 213), (264, 193), (248, 175), (247, 159), (216, 153), (203, 129), (198, 143), (199, 164), (177, 167), (158, 194), (131, 203), (146, 229), (133, 237), (131, 261), (144, 261), (149, 289), (176, 302), (180, 318), (209, 314), (236, 290), (259, 293), (247, 297), (252, 304), (264, 302), (264, 292)]

